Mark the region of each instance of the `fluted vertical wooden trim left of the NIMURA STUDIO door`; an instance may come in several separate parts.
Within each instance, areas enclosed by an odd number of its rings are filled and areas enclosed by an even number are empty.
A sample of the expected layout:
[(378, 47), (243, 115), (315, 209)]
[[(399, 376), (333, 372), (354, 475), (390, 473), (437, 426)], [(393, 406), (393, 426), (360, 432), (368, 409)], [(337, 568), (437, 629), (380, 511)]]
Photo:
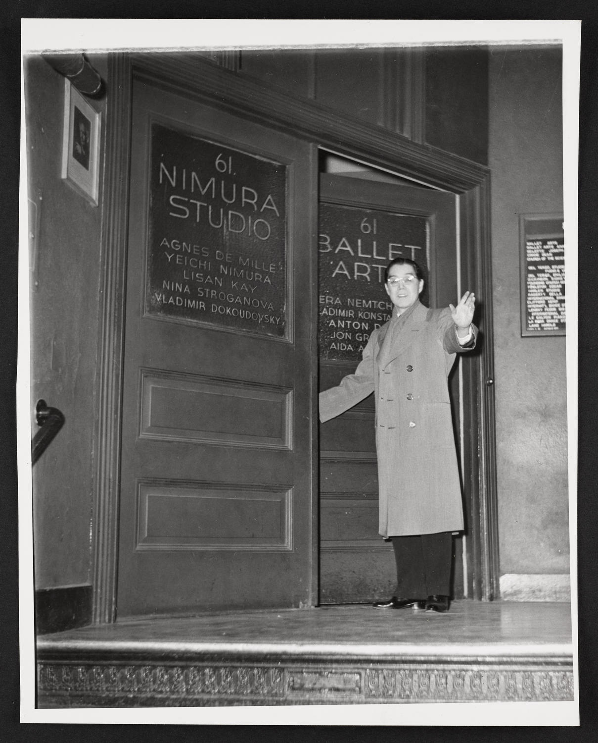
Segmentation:
[[(105, 169), (100, 246), (100, 317), (96, 400), (97, 461), (93, 522), (93, 622), (116, 618), (122, 365), (124, 360), (131, 60), (108, 55)], [(126, 134), (126, 135), (125, 135)]]

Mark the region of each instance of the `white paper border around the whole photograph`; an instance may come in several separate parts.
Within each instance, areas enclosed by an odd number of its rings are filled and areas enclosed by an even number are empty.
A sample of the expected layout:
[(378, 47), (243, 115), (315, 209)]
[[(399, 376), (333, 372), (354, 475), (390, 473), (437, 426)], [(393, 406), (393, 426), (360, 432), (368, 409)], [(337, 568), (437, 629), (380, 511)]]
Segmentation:
[[(223, 51), (237, 49), (357, 48), (367, 46), (559, 45), (563, 49), (563, 179), (565, 184), (565, 282), (568, 296), (567, 385), (568, 462), (573, 614), (574, 699), (560, 702), (476, 702), (472, 704), (321, 704), (302, 706), (36, 708), (36, 655), (33, 623), (33, 493), (30, 461), (31, 327), (27, 231), (27, 151), (22, 82), (19, 369), (19, 662), (20, 721), (27, 724), (191, 724), (191, 725), (369, 725), (421, 726), (579, 726), (577, 628), (577, 170), (579, 146), (580, 20), (323, 20), (323, 19), (21, 19), (22, 53), (85, 51)], [(275, 39), (275, 41), (273, 41)], [(24, 76), (22, 75), (22, 78)], [(589, 95), (589, 91), (585, 91)], [(98, 130), (99, 131), (99, 130)], [(99, 137), (98, 137), (99, 140)], [(72, 185), (68, 181), (69, 185)], [(425, 707), (425, 709), (424, 709)], [(467, 709), (465, 709), (467, 707)], [(306, 715), (306, 710), (309, 714)], [(232, 733), (231, 733), (232, 734)], [(391, 733), (392, 734), (392, 733)], [(386, 733), (382, 735), (386, 738)]]

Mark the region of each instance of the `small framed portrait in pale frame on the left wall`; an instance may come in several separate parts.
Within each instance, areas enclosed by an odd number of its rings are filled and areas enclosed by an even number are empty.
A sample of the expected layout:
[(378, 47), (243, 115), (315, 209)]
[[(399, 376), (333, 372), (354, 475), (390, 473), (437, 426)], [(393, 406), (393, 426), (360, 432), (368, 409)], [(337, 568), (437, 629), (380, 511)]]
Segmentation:
[(99, 111), (65, 80), (61, 175), (94, 206), (98, 204), (101, 122)]

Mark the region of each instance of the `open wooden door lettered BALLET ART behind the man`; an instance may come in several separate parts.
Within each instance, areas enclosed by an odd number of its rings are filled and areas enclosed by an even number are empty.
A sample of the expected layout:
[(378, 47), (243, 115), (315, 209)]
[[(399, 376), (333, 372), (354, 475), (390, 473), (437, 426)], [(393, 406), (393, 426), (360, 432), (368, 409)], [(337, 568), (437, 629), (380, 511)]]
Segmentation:
[[(390, 317), (384, 268), (395, 257), (424, 269), (422, 302), (455, 303), (458, 292), (456, 196), (338, 175), (322, 175), (319, 212), (319, 386), (355, 370), (374, 328)], [(457, 441), (459, 374), (451, 376)], [(320, 426), (320, 601), (361, 603), (392, 595), (390, 542), (378, 534), (374, 400), (369, 395)], [(462, 595), (461, 539), (455, 593)]]

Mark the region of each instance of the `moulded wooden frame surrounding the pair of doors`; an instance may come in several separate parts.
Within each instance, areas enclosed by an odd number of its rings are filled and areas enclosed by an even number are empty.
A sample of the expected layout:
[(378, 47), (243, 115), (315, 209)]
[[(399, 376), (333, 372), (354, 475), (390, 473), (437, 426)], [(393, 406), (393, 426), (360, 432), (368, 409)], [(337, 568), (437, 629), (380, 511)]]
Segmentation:
[[(443, 150), (415, 143), (389, 129), (337, 114), (311, 100), (295, 98), (278, 88), (215, 65), (197, 55), (171, 53), (108, 54), (110, 95), (105, 126), (105, 168), (101, 217), (98, 400), (95, 440), (96, 476), (93, 528), (93, 621), (116, 617), (119, 472), (124, 361), (125, 274), (128, 231), (128, 189), (133, 80), (145, 80), (169, 91), (222, 108), (263, 126), (303, 138), (339, 155), (370, 166), (401, 173), (430, 186), (459, 194), (461, 276), (475, 286), (483, 301), (482, 351), (464, 402), (473, 430), (466, 464), (470, 465), (473, 565), (468, 569), (469, 595), (493, 600), (499, 595), (496, 445), (493, 386), (493, 314), (490, 256), (490, 170)], [(223, 94), (226, 91), (226, 96)], [(123, 136), (125, 134), (125, 136)], [(316, 174), (317, 175), (317, 174)], [(317, 203), (317, 194), (314, 195)], [(314, 210), (317, 215), (317, 211)], [(312, 218), (313, 215), (312, 215)], [(317, 219), (317, 217), (315, 217)], [(315, 233), (315, 225), (314, 225)], [(314, 276), (314, 291), (316, 288)], [(317, 317), (314, 318), (314, 337)], [(312, 391), (317, 392), (317, 354)], [(317, 453), (317, 426), (312, 438)], [(317, 476), (317, 473), (315, 473)], [(317, 574), (318, 488), (312, 478), (312, 555)]]

